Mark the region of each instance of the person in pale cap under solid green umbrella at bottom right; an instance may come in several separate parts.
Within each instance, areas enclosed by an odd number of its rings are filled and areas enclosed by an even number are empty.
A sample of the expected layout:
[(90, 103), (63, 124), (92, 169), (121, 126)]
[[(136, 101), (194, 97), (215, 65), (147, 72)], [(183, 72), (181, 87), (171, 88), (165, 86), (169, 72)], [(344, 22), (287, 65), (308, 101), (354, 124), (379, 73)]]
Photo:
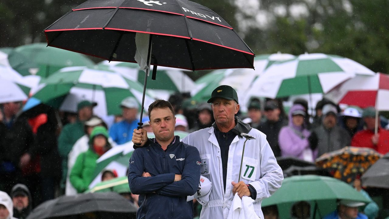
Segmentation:
[(324, 217), (324, 219), (368, 219), (368, 217), (358, 212), (358, 207), (365, 205), (363, 202), (340, 200), (334, 212)]

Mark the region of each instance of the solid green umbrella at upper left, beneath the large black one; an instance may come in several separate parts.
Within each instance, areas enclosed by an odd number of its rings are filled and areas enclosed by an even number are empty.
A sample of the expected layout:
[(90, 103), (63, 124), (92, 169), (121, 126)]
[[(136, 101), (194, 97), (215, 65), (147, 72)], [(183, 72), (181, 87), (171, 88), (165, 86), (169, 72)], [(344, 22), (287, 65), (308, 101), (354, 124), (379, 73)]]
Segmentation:
[(33, 43), (16, 47), (16, 52), (29, 57), (33, 63), (38, 65), (37, 75), (47, 78), (61, 68), (69, 66), (88, 66), (94, 63), (86, 56), (70, 51), (47, 47), (44, 43)]

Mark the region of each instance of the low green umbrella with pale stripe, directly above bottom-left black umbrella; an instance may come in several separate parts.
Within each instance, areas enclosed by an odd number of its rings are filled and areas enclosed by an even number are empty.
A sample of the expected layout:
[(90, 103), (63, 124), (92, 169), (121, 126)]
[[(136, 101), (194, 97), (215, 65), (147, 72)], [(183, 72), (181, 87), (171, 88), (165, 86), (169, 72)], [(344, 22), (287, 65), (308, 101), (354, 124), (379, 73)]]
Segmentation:
[(130, 187), (128, 186), (127, 177), (117, 177), (104, 182), (99, 182), (93, 188), (89, 189), (85, 193), (130, 193)]

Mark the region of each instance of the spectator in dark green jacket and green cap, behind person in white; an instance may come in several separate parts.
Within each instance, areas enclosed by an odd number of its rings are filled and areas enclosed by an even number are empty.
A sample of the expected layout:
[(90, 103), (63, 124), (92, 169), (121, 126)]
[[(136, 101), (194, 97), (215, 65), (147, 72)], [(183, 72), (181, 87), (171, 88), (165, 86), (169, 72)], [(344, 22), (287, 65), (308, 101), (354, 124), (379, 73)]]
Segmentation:
[(75, 142), (85, 134), (84, 122), (92, 117), (93, 107), (96, 105), (95, 102), (79, 102), (77, 104), (77, 122), (65, 125), (58, 137), (58, 152), (62, 159), (61, 189), (63, 190), (65, 190), (65, 182), (68, 173), (68, 154), (70, 150), (72, 150)]

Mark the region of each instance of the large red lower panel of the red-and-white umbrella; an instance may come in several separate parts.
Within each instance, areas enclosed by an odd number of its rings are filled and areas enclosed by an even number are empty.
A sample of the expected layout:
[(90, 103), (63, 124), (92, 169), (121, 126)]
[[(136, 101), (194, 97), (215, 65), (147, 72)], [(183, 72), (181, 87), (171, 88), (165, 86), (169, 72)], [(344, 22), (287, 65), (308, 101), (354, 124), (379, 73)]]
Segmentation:
[(377, 90), (352, 90), (347, 92), (339, 103), (356, 105), (361, 108), (375, 106)]

